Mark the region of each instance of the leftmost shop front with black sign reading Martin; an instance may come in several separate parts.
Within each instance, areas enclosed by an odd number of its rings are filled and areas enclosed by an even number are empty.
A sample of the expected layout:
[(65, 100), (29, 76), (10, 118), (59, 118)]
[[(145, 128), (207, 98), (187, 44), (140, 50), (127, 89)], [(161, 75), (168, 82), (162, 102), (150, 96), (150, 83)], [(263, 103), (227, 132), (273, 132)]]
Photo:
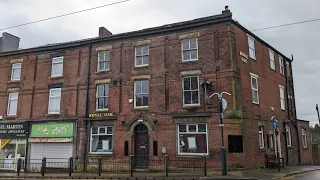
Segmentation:
[(19, 158), (26, 157), (28, 123), (0, 123), (0, 169), (15, 170)]

